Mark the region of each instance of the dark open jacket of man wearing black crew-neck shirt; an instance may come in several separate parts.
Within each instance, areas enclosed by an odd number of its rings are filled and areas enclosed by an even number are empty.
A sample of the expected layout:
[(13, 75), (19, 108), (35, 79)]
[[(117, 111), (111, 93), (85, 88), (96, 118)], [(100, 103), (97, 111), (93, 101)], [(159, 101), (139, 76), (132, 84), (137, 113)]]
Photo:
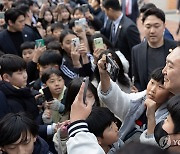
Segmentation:
[[(164, 39), (165, 57), (169, 54), (169, 49), (175, 47), (175, 41)], [(132, 49), (132, 75), (134, 76), (134, 84), (139, 91), (145, 90), (148, 84), (147, 49), (147, 40)], [(164, 60), (164, 66), (165, 63), (166, 60)]]

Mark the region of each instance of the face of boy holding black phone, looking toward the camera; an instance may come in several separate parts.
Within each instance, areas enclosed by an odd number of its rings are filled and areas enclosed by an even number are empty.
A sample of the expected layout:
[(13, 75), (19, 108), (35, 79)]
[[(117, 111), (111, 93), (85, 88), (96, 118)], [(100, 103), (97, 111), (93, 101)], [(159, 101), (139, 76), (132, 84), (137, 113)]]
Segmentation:
[(47, 80), (46, 85), (49, 87), (53, 97), (59, 96), (64, 88), (64, 79), (61, 76), (52, 74)]

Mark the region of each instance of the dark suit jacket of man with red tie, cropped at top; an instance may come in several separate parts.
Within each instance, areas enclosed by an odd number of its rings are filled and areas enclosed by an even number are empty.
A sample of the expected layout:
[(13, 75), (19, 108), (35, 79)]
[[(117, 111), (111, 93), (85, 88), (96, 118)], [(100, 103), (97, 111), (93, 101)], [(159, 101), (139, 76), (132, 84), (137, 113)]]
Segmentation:
[[(122, 11), (124, 14), (126, 14), (126, 0), (122, 0)], [(138, 1), (132, 0), (132, 13), (128, 15), (127, 17), (130, 18), (134, 23), (136, 23), (136, 20), (139, 16), (139, 8), (138, 8)]]

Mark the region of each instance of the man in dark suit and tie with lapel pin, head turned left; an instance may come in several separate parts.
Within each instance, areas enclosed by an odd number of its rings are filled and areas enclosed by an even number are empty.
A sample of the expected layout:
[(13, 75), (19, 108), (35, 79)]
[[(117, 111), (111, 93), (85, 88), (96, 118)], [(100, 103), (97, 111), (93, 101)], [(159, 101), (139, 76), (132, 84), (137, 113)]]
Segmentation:
[[(104, 35), (113, 43), (114, 48), (122, 52), (131, 66), (131, 49), (140, 43), (136, 24), (122, 13), (118, 0), (104, 0), (103, 7), (111, 24), (107, 24)], [(131, 77), (131, 68), (129, 71)]]

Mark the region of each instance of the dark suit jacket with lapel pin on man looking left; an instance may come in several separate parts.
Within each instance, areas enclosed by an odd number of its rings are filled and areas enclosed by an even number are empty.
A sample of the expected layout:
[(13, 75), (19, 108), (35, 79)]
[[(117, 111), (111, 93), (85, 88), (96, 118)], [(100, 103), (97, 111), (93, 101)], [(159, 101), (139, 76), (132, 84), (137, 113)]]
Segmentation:
[[(108, 21), (107, 26), (101, 31), (109, 40), (111, 40), (111, 24), (112, 22)], [(136, 24), (124, 15), (119, 23), (114, 42), (114, 48), (120, 50), (130, 63), (129, 75), (131, 77), (131, 49), (141, 40)]]

